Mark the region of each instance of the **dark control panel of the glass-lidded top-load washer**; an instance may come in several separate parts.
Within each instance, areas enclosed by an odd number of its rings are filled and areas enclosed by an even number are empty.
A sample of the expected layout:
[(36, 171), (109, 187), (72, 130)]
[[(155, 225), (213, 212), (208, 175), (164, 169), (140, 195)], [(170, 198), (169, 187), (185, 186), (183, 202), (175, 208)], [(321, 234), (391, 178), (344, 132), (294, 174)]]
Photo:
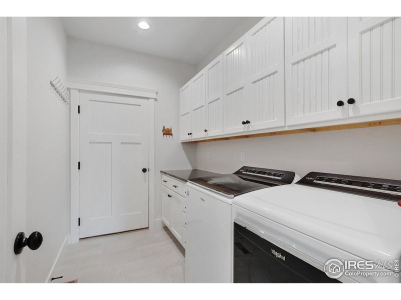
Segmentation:
[(253, 178), (255, 181), (274, 181), (275, 183), (282, 182), (282, 184), (292, 183), (295, 177), (295, 173), (291, 171), (266, 169), (254, 166), (243, 166), (234, 174), (242, 175), (246, 178)]

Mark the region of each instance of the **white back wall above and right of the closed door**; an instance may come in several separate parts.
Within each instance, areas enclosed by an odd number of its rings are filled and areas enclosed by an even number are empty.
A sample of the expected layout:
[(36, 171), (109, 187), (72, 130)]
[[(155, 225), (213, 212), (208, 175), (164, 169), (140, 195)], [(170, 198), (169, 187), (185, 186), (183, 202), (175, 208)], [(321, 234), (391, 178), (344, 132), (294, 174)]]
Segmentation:
[[(161, 169), (195, 166), (196, 146), (179, 142), (179, 88), (195, 74), (195, 66), (178, 61), (68, 39), (68, 76), (158, 90), (155, 102), (155, 218), (161, 218)], [(173, 139), (161, 129), (172, 126)]]

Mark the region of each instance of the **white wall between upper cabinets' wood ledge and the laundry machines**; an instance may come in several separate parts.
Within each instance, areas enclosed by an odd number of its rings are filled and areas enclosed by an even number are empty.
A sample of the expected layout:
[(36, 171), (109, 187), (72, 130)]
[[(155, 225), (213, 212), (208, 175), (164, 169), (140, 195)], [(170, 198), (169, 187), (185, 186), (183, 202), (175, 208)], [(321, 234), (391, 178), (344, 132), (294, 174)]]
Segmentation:
[[(243, 165), (401, 179), (400, 126), (358, 128), (197, 144), (197, 168), (231, 173)], [(210, 159), (206, 159), (207, 152)], [(245, 162), (240, 152), (245, 151)]]

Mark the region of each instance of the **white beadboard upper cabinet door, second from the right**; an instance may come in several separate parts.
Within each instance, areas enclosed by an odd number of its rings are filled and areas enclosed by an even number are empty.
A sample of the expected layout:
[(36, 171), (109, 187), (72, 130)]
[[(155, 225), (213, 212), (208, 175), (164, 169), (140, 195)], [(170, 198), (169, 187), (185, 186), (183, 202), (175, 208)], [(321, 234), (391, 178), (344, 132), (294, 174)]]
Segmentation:
[(347, 18), (286, 17), (286, 124), (348, 117)]

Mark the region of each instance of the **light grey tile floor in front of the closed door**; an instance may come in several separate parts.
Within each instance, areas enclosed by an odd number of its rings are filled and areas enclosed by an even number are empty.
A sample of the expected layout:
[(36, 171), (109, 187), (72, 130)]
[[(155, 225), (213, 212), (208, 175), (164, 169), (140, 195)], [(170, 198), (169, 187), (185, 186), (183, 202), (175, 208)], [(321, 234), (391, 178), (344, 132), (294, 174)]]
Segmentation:
[(184, 251), (166, 227), (81, 239), (66, 245), (52, 282), (184, 282)]

